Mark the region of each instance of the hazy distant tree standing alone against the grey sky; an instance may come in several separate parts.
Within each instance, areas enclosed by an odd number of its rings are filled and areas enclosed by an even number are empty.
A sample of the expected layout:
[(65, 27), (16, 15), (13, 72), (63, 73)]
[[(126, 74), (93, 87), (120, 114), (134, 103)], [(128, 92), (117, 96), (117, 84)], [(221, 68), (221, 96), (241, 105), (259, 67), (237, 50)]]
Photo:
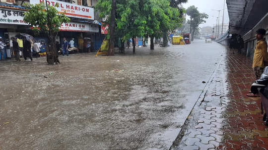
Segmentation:
[(204, 19), (207, 19), (208, 15), (206, 13), (200, 13), (198, 7), (194, 5), (187, 8), (186, 14), (190, 16), (190, 20), (188, 20), (187, 23), (190, 24), (190, 33), (192, 34), (191, 39), (194, 41), (195, 32), (199, 30), (198, 26), (206, 22)]

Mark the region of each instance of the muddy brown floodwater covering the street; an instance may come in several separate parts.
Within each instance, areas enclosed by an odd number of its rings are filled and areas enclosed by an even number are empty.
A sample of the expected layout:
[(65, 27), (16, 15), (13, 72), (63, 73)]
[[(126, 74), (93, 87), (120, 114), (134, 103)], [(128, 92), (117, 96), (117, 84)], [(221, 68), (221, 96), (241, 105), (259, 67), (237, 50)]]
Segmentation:
[(0, 62), (0, 150), (168, 150), (224, 49)]

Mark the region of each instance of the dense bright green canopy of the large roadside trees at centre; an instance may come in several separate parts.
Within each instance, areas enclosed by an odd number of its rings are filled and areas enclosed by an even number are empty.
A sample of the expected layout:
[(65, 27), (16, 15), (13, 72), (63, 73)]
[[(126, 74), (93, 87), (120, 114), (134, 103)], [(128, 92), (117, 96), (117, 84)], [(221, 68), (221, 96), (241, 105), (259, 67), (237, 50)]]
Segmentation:
[[(184, 0), (187, 1), (187, 0)], [(128, 40), (133, 37), (160, 38), (163, 31), (172, 31), (184, 21), (181, 11), (170, 6), (170, 0), (117, 0), (116, 35)], [(110, 23), (111, 0), (99, 0), (100, 17)]]

